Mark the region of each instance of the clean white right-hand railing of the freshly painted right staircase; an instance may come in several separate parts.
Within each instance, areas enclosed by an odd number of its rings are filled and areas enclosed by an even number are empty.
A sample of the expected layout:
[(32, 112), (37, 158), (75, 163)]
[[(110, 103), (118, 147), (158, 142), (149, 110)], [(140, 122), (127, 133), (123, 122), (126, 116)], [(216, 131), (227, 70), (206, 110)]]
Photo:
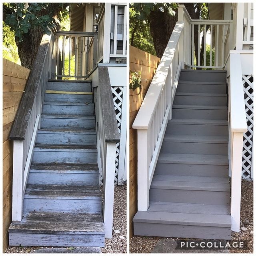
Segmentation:
[(226, 62), (229, 117), (229, 176), (231, 177), (231, 230), (240, 231), (243, 137), (247, 131), (242, 75), (253, 74), (250, 51), (230, 51)]

